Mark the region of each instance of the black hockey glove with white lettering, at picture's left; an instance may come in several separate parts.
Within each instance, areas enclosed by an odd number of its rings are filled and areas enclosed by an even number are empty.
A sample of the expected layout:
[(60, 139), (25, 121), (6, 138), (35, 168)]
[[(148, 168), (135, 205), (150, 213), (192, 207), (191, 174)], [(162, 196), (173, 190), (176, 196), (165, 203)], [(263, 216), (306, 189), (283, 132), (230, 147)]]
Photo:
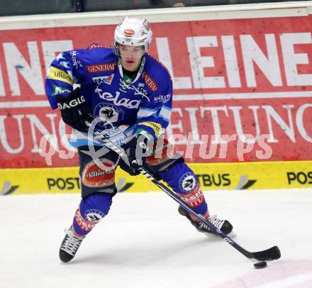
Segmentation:
[(63, 121), (68, 126), (81, 132), (88, 131), (84, 121), (91, 123), (94, 117), (79, 87), (67, 96), (57, 96), (57, 106), (60, 108)]

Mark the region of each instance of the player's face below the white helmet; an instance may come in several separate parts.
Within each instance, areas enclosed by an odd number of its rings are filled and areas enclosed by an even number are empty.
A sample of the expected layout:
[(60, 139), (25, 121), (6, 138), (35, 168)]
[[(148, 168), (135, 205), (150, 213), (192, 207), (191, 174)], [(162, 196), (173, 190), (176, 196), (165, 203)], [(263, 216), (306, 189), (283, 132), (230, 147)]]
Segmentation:
[(121, 65), (128, 71), (138, 70), (144, 55), (143, 46), (120, 45)]

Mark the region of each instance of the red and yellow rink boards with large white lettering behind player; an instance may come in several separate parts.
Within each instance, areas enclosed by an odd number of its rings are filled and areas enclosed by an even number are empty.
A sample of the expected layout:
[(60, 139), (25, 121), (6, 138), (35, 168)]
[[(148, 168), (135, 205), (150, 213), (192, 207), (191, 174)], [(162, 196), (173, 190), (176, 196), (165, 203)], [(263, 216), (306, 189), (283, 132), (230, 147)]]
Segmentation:
[[(79, 193), (45, 75), (62, 50), (111, 45), (127, 15), (152, 23), (174, 87), (167, 137), (204, 190), (311, 187), (312, 1), (296, 1), (1, 18), (0, 194)], [(121, 170), (116, 186), (157, 190)]]

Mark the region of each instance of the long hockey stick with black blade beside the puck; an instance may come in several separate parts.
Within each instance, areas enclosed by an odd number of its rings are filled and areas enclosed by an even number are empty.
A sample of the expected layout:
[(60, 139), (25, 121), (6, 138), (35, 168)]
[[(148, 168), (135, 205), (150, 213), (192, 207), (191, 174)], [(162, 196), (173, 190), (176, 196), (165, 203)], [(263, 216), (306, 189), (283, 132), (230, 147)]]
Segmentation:
[[(96, 140), (99, 140), (101, 143), (104, 143), (107, 148), (113, 150), (115, 153), (117, 153), (120, 157), (124, 158), (127, 157), (125, 151), (115, 145), (106, 135), (103, 135), (99, 131), (96, 130), (96, 128), (91, 126), (91, 123), (85, 122), (86, 125), (89, 128), (94, 129), (94, 135), (96, 135)], [(171, 189), (167, 188), (164, 184), (159, 182), (149, 171), (146, 170), (145, 167), (140, 166), (138, 168), (138, 171), (147, 177), (147, 179), (150, 179), (157, 187), (162, 189), (163, 192), (165, 192), (167, 195), (169, 195), (174, 201), (179, 203), (184, 210), (186, 210), (189, 214), (195, 216), (196, 218), (199, 219), (199, 221), (203, 222), (211, 228), (211, 231), (213, 231), (217, 236), (223, 238), (228, 244), (230, 244), (233, 248), (238, 250), (240, 253), (245, 255), (250, 260), (257, 260), (257, 261), (272, 261), (272, 260), (277, 260), (279, 257), (281, 257), (281, 253), (279, 251), (279, 248), (277, 246), (274, 246), (272, 248), (269, 248), (267, 250), (259, 251), (259, 252), (249, 252), (245, 250), (243, 247), (241, 247), (238, 243), (236, 243), (232, 238), (227, 236), (225, 233), (223, 233), (220, 229), (216, 228), (212, 223), (207, 221), (201, 214), (196, 213), (189, 205), (187, 205), (177, 194), (172, 192)]]

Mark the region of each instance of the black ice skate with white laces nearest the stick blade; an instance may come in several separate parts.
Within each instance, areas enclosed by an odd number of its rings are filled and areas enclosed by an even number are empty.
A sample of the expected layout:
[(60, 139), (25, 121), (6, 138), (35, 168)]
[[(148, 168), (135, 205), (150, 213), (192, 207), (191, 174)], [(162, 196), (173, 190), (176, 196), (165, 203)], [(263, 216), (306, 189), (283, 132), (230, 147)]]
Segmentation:
[[(208, 233), (208, 234), (215, 234), (213, 231), (211, 231), (211, 228), (209, 228), (205, 223), (203, 222), (198, 222), (194, 221), (191, 216), (182, 208), (182, 206), (179, 206), (179, 214), (185, 216), (186, 218), (189, 219), (191, 224), (195, 226), (197, 231), (202, 232), (202, 233)], [(216, 215), (210, 216), (207, 219), (210, 223), (212, 223), (216, 228), (220, 229), (223, 233), (230, 237), (235, 237), (235, 233), (233, 232), (233, 226), (228, 220), (222, 220), (218, 219)]]

